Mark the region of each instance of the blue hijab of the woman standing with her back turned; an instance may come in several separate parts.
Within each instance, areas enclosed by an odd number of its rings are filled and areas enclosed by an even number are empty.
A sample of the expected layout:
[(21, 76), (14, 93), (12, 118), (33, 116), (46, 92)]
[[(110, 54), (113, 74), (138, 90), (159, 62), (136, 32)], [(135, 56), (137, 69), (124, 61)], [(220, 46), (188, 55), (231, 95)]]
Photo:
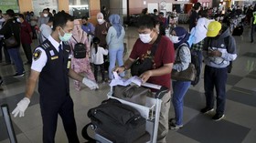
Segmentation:
[(109, 17), (109, 20), (112, 26), (114, 27), (114, 29), (116, 30), (117, 37), (121, 36), (123, 26), (120, 21), (120, 15), (112, 14)]

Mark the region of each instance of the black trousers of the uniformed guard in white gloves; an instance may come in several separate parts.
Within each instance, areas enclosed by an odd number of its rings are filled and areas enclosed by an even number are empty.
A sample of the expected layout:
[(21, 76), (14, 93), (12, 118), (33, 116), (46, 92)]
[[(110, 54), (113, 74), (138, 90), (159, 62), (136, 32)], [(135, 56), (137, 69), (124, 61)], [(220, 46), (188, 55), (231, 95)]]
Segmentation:
[(80, 142), (74, 117), (74, 103), (70, 96), (62, 97), (56, 102), (52, 102), (50, 99), (41, 98), (40, 107), (43, 118), (44, 143), (54, 143), (58, 114), (62, 119), (69, 143)]

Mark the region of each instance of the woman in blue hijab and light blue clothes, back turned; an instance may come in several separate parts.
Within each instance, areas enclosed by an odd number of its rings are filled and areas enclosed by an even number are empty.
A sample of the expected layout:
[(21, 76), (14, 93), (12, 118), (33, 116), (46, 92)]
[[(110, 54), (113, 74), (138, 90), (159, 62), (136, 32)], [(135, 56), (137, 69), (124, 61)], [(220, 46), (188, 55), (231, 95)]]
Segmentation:
[[(110, 58), (109, 79), (112, 79), (112, 70), (115, 66), (115, 61), (117, 61), (118, 66), (123, 66), (123, 38), (125, 32), (119, 15), (110, 15), (109, 20), (112, 26), (109, 28), (106, 41), (109, 46)], [(124, 72), (121, 73), (120, 76), (124, 77)]]

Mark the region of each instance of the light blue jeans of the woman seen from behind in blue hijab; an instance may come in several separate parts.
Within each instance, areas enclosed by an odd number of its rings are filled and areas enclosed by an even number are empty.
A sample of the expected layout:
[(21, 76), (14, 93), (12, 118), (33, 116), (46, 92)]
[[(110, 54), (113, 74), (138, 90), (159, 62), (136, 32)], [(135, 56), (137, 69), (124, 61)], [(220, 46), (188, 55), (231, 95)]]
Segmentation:
[[(113, 78), (112, 70), (114, 69), (115, 62), (117, 60), (118, 66), (123, 66), (123, 46), (119, 48), (109, 48), (110, 66), (109, 66), (109, 78)], [(124, 72), (119, 74), (124, 77)]]

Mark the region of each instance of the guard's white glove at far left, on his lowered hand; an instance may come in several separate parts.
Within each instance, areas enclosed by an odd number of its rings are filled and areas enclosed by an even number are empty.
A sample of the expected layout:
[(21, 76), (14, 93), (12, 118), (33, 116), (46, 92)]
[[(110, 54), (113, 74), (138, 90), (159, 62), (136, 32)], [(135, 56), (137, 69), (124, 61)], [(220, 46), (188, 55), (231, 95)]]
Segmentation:
[(24, 117), (24, 112), (27, 109), (29, 103), (30, 103), (30, 99), (27, 97), (24, 97), (22, 100), (20, 100), (17, 103), (16, 108), (12, 112), (12, 114), (14, 114), (14, 117), (16, 117), (17, 114), (19, 114), (19, 117)]

